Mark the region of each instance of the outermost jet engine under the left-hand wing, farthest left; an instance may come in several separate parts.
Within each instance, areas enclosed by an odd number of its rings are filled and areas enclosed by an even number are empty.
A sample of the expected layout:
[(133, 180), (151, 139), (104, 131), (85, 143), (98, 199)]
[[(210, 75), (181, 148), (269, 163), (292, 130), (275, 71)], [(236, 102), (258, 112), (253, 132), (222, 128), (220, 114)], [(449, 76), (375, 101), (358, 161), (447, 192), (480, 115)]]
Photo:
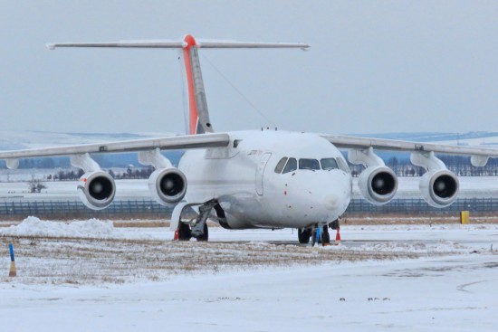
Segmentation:
[(92, 210), (108, 207), (116, 194), (116, 184), (109, 173), (97, 171), (85, 173), (78, 183), (81, 202)]

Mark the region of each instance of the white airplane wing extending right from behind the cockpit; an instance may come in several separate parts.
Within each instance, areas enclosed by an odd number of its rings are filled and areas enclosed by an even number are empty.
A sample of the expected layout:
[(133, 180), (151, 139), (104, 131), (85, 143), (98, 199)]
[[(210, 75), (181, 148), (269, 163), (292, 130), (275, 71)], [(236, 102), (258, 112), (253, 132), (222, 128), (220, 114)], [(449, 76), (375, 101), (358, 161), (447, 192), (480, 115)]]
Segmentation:
[(498, 148), (493, 147), (449, 146), (444, 144), (410, 142), (395, 139), (359, 138), (341, 135), (322, 135), (322, 137), (339, 148), (365, 149), (372, 147), (378, 150), (388, 151), (434, 152), (435, 154), (442, 155), (498, 157)]

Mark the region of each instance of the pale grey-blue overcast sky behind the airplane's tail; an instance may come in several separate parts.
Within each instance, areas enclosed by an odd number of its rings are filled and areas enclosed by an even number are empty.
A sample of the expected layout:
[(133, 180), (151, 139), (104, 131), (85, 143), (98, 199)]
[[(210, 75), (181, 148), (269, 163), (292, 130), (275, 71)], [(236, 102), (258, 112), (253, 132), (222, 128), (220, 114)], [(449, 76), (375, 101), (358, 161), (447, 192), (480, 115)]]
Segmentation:
[(216, 131), (498, 131), (497, 1), (0, 4), (0, 130), (183, 133), (176, 51), (44, 44), (192, 33), (311, 44), (201, 50)]

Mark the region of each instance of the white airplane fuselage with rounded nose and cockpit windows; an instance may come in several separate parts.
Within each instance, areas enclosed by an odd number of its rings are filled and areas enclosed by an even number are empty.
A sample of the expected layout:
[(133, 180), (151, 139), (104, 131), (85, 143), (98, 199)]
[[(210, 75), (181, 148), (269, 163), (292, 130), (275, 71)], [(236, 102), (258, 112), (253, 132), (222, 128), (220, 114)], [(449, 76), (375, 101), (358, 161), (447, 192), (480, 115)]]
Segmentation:
[[(229, 135), (228, 147), (189, 150), (178, 168), (188, 179), (187, 202), (217, 200), (230, 228), (323, 225), (350, 204), (349, 168), (325, 138), (274, 130)], [(329, 167), (330, 159), (337, 164)]]

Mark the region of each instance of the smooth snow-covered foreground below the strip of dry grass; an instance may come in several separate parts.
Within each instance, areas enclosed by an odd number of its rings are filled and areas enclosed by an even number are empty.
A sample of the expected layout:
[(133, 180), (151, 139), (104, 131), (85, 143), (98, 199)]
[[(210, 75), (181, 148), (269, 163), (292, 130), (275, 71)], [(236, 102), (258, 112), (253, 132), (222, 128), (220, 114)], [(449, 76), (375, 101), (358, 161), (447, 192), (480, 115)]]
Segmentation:
[(497, 265), (476, 255), (106, 287), (12, 284), (0, 286), (0, 312), (16, 331), (494, 331)]

